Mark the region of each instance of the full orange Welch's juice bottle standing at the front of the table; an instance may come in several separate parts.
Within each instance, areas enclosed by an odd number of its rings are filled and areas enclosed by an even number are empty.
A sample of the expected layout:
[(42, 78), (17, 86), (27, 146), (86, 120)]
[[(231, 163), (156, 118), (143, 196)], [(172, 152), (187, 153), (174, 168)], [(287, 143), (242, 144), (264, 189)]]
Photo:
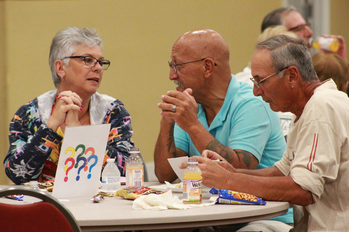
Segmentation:
[(184, 170), (183, 177), (183, 203), (201, 204), (202, 200), (202, 176), (198, 167), (198, 160), (188, 158), (188, 167)]

